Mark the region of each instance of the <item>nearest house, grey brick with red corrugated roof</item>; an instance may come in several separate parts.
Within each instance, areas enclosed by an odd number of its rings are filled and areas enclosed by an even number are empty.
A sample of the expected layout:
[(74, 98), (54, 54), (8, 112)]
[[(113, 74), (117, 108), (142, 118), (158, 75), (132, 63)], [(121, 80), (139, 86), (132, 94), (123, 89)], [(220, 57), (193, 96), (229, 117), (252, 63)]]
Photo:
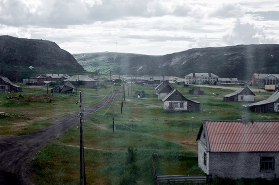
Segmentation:
[(279, 171), (279, 121), (203, 120), (196, 141), (207, 175), (271, 180)]

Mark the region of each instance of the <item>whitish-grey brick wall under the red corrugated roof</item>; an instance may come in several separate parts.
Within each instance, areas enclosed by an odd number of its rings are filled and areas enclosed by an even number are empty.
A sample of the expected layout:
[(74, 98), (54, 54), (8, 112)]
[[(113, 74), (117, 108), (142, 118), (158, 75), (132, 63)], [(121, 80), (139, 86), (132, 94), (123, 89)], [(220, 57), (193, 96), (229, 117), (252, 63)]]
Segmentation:
[[(279, 173), (278, 152), (210, 152), (207, 156), (208, 168), (205, 171), (207, 174), (212, 174), (213, 177), (218, 175), (219, 177), (271, 180), (275, 173)], [(274, 171), (261, 171), (261, 156), (274, 156)]]

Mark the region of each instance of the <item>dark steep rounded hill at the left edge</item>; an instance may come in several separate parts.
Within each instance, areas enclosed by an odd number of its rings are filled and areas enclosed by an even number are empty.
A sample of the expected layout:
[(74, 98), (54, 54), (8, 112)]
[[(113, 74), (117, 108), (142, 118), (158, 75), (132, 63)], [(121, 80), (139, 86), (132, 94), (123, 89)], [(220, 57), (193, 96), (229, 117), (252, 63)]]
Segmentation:
[[(33, 66), (32, 70), (29, 66)], [(86, 72), (52, 41), (0, 36), (0, 75), (12, 81), (44, 73)]]

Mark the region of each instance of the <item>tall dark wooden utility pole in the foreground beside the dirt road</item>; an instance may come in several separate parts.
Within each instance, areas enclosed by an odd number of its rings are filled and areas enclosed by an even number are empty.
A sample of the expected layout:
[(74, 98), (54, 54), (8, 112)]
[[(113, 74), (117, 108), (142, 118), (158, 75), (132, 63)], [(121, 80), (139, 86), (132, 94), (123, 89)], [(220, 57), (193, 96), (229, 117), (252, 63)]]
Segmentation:
[(84, 150), (83, 150), (83, 112), (82, 112), (82, 91), (80, 91), (80, 184), (85, 185), (85, 164), (84, 164)]

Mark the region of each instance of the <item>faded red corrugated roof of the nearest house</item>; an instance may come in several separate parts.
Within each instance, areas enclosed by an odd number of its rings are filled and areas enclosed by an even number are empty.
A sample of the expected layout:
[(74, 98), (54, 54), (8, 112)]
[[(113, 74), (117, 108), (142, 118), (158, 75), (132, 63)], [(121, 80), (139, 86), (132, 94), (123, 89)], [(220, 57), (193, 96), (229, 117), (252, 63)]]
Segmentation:
[(279, 152), (279, 121), (206, 120), (203, 126), (211, 152)]

